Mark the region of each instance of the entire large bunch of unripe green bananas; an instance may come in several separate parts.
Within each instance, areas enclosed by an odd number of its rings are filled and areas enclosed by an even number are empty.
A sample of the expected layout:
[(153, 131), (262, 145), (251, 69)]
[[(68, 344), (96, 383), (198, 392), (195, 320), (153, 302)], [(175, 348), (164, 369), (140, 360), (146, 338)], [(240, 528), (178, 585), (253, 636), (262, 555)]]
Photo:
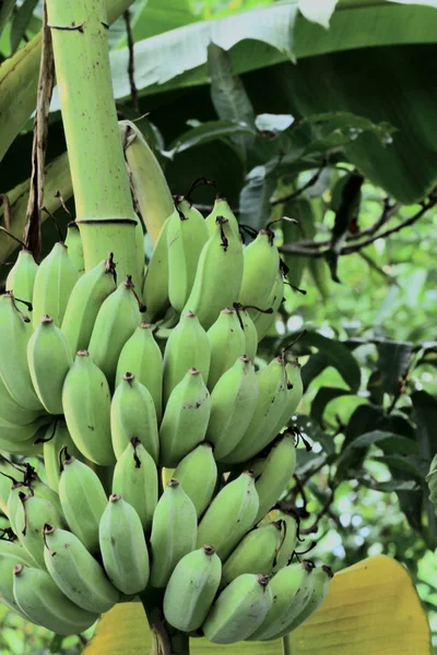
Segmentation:
[(282, 301), (274, 233), (244, 246), (223, 196), (206, 219), (176, 198), (142, 289), (116, 255), (85, 271), (71, 224), (0, 297), (0, 597), (72, 634), (155, 588), (176, 630), (275, 639), (331, 573), (293, 562), (298, 525), (274, 510), (303, 394), (297, 361), (256, 359)]

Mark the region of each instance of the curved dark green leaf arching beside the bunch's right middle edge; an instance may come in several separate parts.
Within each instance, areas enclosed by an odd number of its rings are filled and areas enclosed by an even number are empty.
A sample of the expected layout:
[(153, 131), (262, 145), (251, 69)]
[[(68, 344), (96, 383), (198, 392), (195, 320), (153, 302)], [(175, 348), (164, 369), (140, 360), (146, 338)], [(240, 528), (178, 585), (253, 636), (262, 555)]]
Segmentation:
[[(291, 337), (283, 337), (281, 340), (281, 344), (283, 346), (286, 346), (286, 344), (291, 341)], [(339, 371), (345, 383), (350, 386), (351, 391), (353, 391), (354, 393), (358, 391), (361, 382), (359, 366), (345, 345), (343, 345), (341, 342), (328, 338), (327, 336), (323, 336), (318, 332), (307, 332), (307, 334), (305, 335), (304, 344), (305, 346), (315, 346), (318, 349), (319, 355), (322, 355), (322, 358), (324, 360), (323, 368), (326, 368), (327, 366), (334, 367)], [(307, 366), (308, 364), (306, 364), (302, 369), (303, 376)], [(319, 372), (321, 372), (323, 368), (321, 368), (320, 362)]]

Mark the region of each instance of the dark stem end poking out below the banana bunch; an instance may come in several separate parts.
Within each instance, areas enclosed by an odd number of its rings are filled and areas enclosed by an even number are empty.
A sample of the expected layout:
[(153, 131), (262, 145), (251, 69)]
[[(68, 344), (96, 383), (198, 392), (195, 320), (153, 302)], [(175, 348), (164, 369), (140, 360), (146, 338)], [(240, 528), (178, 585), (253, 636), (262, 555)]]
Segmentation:
[(140, 594), (152, 633), (149, 655), (190, 655), (190, 640), (178, 630), (169, 631), (163, 619), (164, 590), (146, 588)]

